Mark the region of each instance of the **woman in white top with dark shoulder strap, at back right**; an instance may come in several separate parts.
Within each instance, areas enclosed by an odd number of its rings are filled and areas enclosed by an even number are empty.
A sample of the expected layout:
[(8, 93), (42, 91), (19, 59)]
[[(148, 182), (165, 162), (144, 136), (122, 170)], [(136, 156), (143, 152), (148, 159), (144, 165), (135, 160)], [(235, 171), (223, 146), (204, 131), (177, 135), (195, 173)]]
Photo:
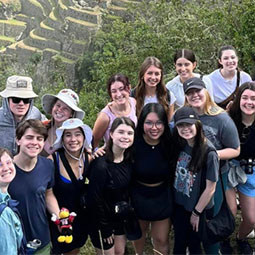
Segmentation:
[(249, 74), (238, 69), (236, 49), (231, 45), (220, 48), (218, 55), (218, 69), (209, 74), (213, 85), (215, 102), (226, 109), (233, 100), (238, 87), (244, 82), (251, 81)]

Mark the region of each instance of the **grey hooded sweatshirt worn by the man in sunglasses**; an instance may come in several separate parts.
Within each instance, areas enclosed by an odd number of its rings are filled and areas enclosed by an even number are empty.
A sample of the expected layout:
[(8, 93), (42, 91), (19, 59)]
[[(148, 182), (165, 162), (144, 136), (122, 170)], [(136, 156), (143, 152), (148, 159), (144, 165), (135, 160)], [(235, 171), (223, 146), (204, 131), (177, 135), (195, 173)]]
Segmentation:
[[(13, 155), (17, 154), (16, 128), (19, 124), (10, 110), (8, 98), (2, 98), (2, 107), (0, 108), (0, 147), (8, 149)], [(30, 103), (27, 114), (22, 121), (28, 119), (46, 120), (46, 117)]]

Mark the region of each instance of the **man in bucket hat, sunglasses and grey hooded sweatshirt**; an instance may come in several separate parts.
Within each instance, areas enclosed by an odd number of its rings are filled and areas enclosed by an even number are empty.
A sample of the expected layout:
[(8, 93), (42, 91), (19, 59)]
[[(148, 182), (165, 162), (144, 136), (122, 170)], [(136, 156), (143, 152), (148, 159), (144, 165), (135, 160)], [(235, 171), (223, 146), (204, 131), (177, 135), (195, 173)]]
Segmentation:
[(33, 106), (37, 95), (33, 91), (31, 78), (17, 75), (9, 77), (6, 88), (0, 95), (3, 97), (0, 108), (0, 147), (16, 155), (15, 130), (18, 124), (27, 119), (46, 118)]

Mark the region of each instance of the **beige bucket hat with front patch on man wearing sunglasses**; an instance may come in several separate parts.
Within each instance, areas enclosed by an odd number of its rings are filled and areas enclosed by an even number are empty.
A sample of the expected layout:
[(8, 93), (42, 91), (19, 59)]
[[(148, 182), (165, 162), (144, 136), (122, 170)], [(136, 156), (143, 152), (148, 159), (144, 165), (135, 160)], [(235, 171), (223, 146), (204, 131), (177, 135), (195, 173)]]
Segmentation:
[(19, 97), (19, 98), (34, 98), (38, 97), (32, 86), (32, 79), (26, 76), (13, 75), (8, 77), (6, 81), (6, 88), (0, 95), (2, 97)]

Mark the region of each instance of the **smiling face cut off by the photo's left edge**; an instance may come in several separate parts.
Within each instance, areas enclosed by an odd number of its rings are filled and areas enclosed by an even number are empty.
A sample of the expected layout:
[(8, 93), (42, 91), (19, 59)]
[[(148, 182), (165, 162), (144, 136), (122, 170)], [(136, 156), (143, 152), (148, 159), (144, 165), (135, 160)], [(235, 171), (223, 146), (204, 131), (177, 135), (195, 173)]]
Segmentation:
[(7, 187), (14, 179), (16, 169), (12, 158), (4, 152), (0, 159), (0, 188)]

